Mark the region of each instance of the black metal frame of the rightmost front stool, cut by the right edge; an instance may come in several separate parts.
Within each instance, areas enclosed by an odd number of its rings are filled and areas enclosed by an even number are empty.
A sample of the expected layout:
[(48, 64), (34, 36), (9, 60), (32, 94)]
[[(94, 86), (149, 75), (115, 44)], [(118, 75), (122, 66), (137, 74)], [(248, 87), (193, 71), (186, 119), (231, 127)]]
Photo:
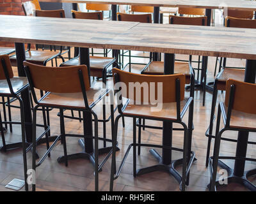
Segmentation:
[[(233, 106), (233, 102), (234, 102), (234, 91), (235, 91), (236, 87), (234, 84), (232, 84), (230, 88), (231, 89), (230, 89), (230, 96), (229, 96), (229, 101), (228, 101), (227, 114), (226, 114), (225, 105), (223, 102), (220, 102), (219, 106), (218, 106), (216, 138), (215, 138), (215, 142), (214, 142), (214, 154), (213, 154), (213, 157), (209, 158), (210, 171), (211, 171), (211, 183), (209, 184), (209, 188), (210, 188), (210, 191), (216, 191), (216, 187), (220, 186), (218, 180), (216, 181), (217, 168), (218, 168), (218, 164), (219, 164), (222, 168), (224, 168), (225, 170), (228, 171), (228, 177), (226, 178), (228, 180), (228, 183), (236, 182), (236, 183), (243, 185), (244, 187), (247, 187), (251, 191), (256, 191), (256, 186), (248, 180), (248, 177), (256, 174), (255, 169), (246, 171), (240, 177), (237, 175), (236, 168), (234, 170), (232, 170), (226, 164), (224, 164), (218, 160), (218, 159), (236, 159), (236, 161), (256, 161), (256, 159), (252, 159), (252, 158), (239, 157), (239, 156), (237, 156), (237, 154), (235, 157), (219, 156), (220, 142), (222, 139), (221, 135), (223, 134), (223, 132), (225, 132), (227, 130), (228, 131), (256, 132), (255, 129), (250, 129), (250, 128), (233, 128), (233, 127), (231, 128), (230, 127), (230, 117), (231, 117), (231, 113), (232, 113), (232, 106)], [(223, 123), (224, 123), (225, 127), (220, 130), (221, 116), (222, 116)], [(245, 149), (245, 154), (246, 154), (246, 149)], [(235, 166), (236, 166), (236, 164), (235, 164)], [(244, 171), (244, 166), (239, 166), (239, 168), (241, 168)]]

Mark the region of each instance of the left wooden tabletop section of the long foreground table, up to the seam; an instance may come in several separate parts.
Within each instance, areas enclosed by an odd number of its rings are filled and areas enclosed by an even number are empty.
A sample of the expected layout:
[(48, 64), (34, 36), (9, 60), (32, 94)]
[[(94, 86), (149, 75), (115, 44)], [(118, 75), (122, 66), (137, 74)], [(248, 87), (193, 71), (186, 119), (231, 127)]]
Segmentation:
[(138, 22), (0, 15), (0, 41), (104, 48)]

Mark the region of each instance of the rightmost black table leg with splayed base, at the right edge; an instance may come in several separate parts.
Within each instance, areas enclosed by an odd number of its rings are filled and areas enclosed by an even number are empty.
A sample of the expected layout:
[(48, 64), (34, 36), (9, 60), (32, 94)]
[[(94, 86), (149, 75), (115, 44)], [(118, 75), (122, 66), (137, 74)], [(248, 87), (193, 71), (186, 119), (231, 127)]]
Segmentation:
[[(255, 84), (256, 75), (256, 61), (246, 60), (246, 68), (244, 73), (244, 82)], [(236, 157), (246, 157), (246, 150), (248, 145), (248, 135), (246, 131), (239, 131), (237, 136), (237, 146), (236, 146)], [(256, 191), (256, 186), (252, 184), (247, 178), (256, 175), (256, 169), (244, 171), (245, 161), (235, 160), (234, 169), (227, 166), (227, 164), (222, 161), (218, 161), (218, 165), (227, 170), (228, 177), (226, 178), (229, 183), (238, 183), (244, 187), (250, 189), (251, 191)], [(220, 186), (218, 180), (216, 181), (216, 187)]]

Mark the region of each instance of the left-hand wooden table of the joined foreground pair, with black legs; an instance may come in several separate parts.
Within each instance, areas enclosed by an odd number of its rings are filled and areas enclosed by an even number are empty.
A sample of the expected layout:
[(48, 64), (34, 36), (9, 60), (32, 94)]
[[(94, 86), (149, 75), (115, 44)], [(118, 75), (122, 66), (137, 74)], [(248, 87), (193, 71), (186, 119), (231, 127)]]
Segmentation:
[[(44, 45), (66, 45), (79, 47), (80, 63), (86, 64), (88, 73), (90, 73), (89, 48), (105, 48), (106, 43), (115, 38), (116, 34), (130, 29), (137, 25), (136, 22), (117, 22), (103, 20), (79, 20), (68, 18), (42, 18), (42, 17), (24, 17), (0, 15), (1, 25), (4, 29), (0, 30), (0, 41), (15, 42), (17, 54), (17, 67), (20, 77), (26, 77), (23, 68), (23, 61), (26, 60), (24, 43), (37, 43)], [(97, 22), (97, 23), (96, 23)], [(68, 26), (67, 26), (68, 25)], [(22, 92), (24, 102), (25, 122), (26, 122), (26, 140), (32, 142), (32, 116), (29, 93)], [(85, 118), (86, 131), (92, 135), (92, 115), (86, 113)], [(52, 138), (53, 140), (55, 137)], [(42, 141), (41, 141), (42, 142)], [(69, 159), (77, 157), (93, 158), (93, 140), (79, 140), (83, 145), (83, 152), (69, 155)], [(20, 143), (7, 145), (7, 149), (19, 147)], [(108, 148), (99, 149), (99, 154), (109, 152)], [(63, 161), (63, 157), (58, 159)]]

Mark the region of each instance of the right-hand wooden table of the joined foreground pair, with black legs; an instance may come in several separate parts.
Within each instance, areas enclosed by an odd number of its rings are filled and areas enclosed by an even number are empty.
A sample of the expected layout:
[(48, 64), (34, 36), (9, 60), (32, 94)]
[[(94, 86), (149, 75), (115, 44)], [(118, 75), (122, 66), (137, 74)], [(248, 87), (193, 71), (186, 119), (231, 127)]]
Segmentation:
[[(139, 50), (148, 52), (164, 53), (164, 73), (173, 74), (175, 54), (202, 55), (207, 65), (208, 56), (243, 58), (246, 59), (245, 82), (255, 83), (256, 74), (256, 29), (237, 29), (230, 27), (209, 27), (193, 25), (170, 25), (170, 24), (138, 24), (128, 31), (116, 36), (109, 41), (106, 47), (113, 49)], [(167, 129), (167, 131), (164, 131)], [(163, 123), (163, 145), (170, 146), (172, 143), (172, 123)], [(246, 156), (248, 132), (240, 131), (237, 139), (237, 157)], [(177, 180), (179, 175), (173, 171), (172, 166), (180, 161), (171, 161), (172, 154), (163, 150), (160, 156), (156, 150), (152, 154), (161, 161), (157, 166), (144, 168), (139, 173), (147, 173), (155, 170), (170, 171)], [(172, 164), (170, 166), (170, 164)], [(234, 170), (220, 162), (220, 166), (230, 173), (229, 182), (239, 182), (253, 191), (256, 187), (244, 177), (244, 161), (236, 160)], [(250, 171), (255, 174), (255, 170)]]

